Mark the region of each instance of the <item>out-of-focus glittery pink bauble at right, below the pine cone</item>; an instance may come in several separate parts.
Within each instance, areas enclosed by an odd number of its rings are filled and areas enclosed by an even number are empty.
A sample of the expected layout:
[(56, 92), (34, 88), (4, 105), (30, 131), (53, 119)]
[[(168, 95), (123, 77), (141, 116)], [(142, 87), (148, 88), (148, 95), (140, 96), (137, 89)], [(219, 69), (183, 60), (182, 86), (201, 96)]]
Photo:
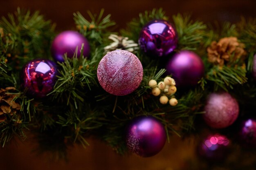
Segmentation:
[(226, 128), (238, 117), (238, 102), (229, 93), (212, 93), (204, 107), (205, 122), (212, 128)]

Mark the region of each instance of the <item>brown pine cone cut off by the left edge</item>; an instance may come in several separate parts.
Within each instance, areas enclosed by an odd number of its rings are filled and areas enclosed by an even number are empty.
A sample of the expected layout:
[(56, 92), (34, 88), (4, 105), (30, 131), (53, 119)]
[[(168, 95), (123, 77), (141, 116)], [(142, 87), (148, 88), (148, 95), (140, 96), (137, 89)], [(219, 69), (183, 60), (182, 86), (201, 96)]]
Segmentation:
[(7, 119), (7, 114), (16, 114), (17, 110), (20, 110), (20, 104), (13, 101), (17, 95), (8, 94), (7, 91), (16, 90), (15, 87), (7, 87), (0, 89), (0, 122)]

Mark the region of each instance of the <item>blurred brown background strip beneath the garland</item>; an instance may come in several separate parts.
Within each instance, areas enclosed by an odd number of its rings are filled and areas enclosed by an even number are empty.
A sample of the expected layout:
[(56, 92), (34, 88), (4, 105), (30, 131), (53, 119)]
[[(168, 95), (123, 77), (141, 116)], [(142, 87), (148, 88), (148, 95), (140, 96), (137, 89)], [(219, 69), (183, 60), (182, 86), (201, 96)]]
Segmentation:
[(117, 155), (109, 146), (88, 139), (86, 149), (74, 146), (69, 150), (69, 161), (53, 161), (50, 155), (32, 152), (32, 140), (12, 142), (0, 148), (0, 170), (180, 170), (194, 155), (194, 142), (173, 136), (163, 150), (154, 157), (142, 158), (130, 154)]

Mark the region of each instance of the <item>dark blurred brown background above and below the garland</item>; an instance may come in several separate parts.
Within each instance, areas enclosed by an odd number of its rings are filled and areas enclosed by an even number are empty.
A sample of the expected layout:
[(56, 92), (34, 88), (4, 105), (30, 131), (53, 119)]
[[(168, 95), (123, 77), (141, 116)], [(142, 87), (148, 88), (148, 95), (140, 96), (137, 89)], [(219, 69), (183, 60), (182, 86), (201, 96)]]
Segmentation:
[[(162, 7), (166, 15), (191, 13), (193, 19), (204, 22), (237, 22), (241, 16), (256, 17), (256, 0), (0, 0), (0, 15), (7, 16), (17, 7), (39, 10), (45, 18), (56, 23), (56, 29), (63, 31), (74, 28), (73, 13), (80, 11), (88, 18), (87, 10), (105, 14), (111, 13), (118, 28), (137, 17), (140, 12)], [(187, 160), (195, 157), (193, 139), (182, 140), (171, 137), (164, 149), (151, 158), (135, 155), (117, 155), (106, 144), (88, 139), (91, 144), (83, 149), (74, 146), (69, 150), (69, 161), (52, 161), (49, 155), (37, 155), (33, 152), (36, 144), (27, 139), (12, 141), (0, 148), (0, 170), (182, 170)], [(186, 167), (186, 169), (189, 169)]]

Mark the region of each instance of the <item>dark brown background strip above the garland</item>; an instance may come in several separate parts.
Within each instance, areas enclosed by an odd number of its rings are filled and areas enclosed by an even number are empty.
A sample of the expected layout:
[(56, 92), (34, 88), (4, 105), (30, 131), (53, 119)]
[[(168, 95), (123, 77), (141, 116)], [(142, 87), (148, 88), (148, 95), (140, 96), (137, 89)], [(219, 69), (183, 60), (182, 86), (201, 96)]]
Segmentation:
[(73, 13), (87, 10), (98, 13), (101, 8), (111, 13), (119, 27), (124, 27), (138, 13), (162, 7), (166, 15), (192, 13), (193, 18), (213, 22), (236, 22), (240, 16), (256, 17), (256, 0), (0, 0), (0, 15), (6, 16), (17, 7), (40, 10), (47, 19), (56, 22), (58, 30), (74, 27)]

